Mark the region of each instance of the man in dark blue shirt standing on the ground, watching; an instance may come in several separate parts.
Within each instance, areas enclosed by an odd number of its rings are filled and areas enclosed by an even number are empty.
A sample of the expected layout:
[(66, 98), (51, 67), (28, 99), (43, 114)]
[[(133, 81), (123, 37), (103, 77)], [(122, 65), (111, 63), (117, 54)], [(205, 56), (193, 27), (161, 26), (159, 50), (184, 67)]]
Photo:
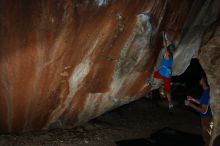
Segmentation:
[(210, 89), (206, 77), (202, 77), (199, 83), (203, 89), (200, 100), (198, 101), (191, 96), (187, 96), (187, 100), (185, 100), (185, 105), (193, 108), (200, 113), (202, 136), (205, 141), (205, 146), (208, 146), (210, 143), (210, 137), (213, 128), (213, 117), (210, 107)]

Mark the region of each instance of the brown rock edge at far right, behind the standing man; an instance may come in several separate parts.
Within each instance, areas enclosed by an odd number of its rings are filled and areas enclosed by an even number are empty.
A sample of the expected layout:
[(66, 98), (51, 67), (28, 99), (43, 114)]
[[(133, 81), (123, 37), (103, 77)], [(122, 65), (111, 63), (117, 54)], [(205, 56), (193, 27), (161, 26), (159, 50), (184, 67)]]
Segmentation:
[[(217, 26), (216, 26), (217, 25)], [(220, 135), (220, 23), (209, 29), (208, 41), (201, 48), (200, 62), (207, 73), (211, 86), (211, 105), (214, 114), (213, 140)], [(206, 37), (207, 38), (207, 37)]]

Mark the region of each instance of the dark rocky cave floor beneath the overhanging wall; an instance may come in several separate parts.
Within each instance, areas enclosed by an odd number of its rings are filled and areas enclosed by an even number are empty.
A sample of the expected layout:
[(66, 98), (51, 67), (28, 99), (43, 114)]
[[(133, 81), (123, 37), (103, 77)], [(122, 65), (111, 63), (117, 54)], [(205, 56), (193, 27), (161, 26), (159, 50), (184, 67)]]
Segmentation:
[[(175, 96), (178, 96), (175, 95)], [(0, 135), (1, 146), (116, 146), (124, 139), (147, 138), (151, 133), (170, 127), (199, 134), (199, 116), (175, 101), (170, 113), (163, 99), (142, 98), (74, 129)]]

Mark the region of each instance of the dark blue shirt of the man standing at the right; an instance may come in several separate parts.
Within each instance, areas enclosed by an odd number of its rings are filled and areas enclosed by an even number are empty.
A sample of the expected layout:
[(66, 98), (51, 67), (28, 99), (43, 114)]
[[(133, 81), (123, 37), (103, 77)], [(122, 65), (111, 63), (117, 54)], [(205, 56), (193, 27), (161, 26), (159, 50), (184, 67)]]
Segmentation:
[(200, 113), (201, 118), (208, 118), (212, 117), (212, 110), (210, 107), (210, 90), (207, 89), (203, 91), (202, 96), (200, 98), (200, 104), (201, 105), (208, 105), (208, 110), (205, 113)]

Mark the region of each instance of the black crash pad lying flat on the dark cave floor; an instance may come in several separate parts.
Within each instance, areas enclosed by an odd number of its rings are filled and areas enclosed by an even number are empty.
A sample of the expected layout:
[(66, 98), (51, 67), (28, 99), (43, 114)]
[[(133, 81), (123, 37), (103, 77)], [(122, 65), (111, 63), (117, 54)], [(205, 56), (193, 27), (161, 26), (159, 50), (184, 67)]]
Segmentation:
[(204, 146), (201, 135), (172, 128), (163, 128), (149, 138), (128, 139), (116, 142), (117, 146)]

